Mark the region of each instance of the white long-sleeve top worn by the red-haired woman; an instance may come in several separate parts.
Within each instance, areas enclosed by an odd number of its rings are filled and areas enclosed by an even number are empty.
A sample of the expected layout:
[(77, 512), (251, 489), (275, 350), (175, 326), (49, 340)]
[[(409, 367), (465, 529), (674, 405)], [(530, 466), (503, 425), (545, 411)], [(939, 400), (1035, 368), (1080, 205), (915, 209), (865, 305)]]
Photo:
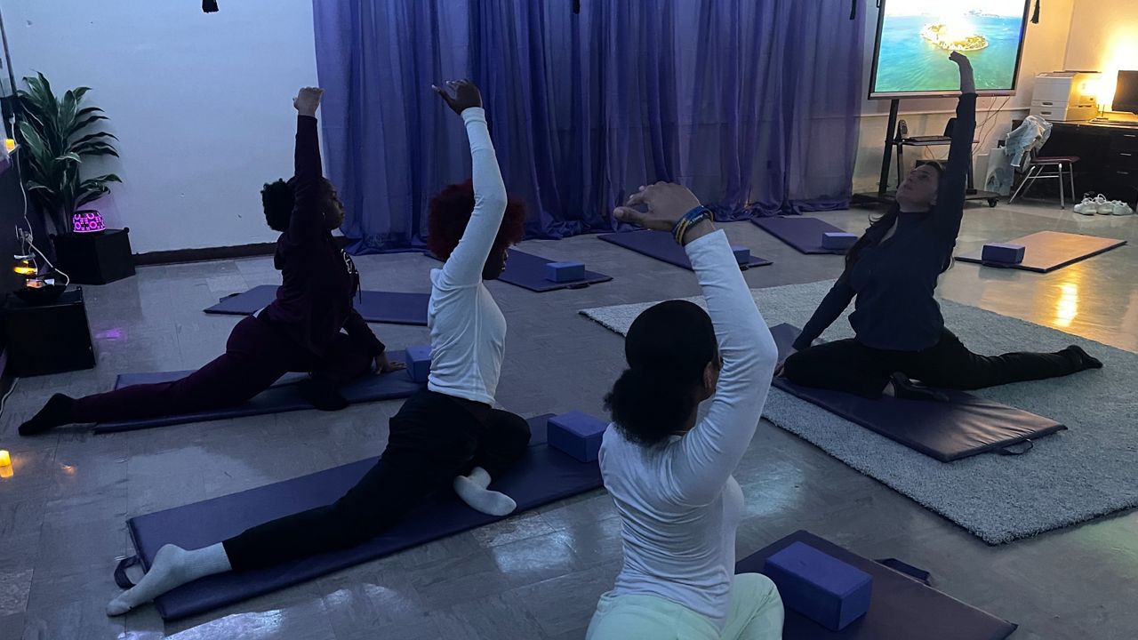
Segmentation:
[(483, 284), (483, 268), (502, 225), (506, 194), (486, 112), (469, 108), (462, 112), (462, 120), (470, 139), (475, 211), (459, 246), (442, 269), (430, 272), (427, 327), (431, 367), (427, 387), (493, 404), (505, 352), (505, 317)]

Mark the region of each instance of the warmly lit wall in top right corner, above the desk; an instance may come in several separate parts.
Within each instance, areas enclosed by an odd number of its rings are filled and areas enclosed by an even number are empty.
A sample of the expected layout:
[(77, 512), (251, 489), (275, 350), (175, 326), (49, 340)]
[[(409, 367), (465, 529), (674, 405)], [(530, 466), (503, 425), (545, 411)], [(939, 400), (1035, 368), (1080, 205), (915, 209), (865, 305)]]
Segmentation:
[(1077, 0), (1066, 67), (1103, 72), (1098, 104), (1108, 109), (1119, 69), (1138, 69), (1138, 0)]

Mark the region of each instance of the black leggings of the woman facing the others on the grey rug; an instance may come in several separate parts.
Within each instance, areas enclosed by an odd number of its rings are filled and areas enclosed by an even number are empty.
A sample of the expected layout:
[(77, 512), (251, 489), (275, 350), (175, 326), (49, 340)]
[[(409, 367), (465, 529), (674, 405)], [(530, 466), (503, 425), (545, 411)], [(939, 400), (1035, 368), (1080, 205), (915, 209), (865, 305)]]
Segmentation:
[(787, 358), (783, 375), (806, 387), (877, 397), (898, 371), (932, 387), (975, 389), (1067, 376), (1083, 368), (1070, 352), (978, 355), (945, 329), (940, 340), (923, 351), (871, 348), (853, 338), (819, 344)]

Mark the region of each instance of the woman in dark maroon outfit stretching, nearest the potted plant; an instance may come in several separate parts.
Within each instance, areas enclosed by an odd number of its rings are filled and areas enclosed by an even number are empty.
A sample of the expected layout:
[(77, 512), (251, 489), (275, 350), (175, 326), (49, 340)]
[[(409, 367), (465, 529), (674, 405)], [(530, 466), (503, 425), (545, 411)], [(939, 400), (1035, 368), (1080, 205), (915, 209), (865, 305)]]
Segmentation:
[[(281, 272), (277, 300), (233, 327), (225, 353), (193, 374), (168, 383), (134, 385), (72, 399), (57, 393), (20, 435), (72, 422), (138, 420), (236, 407), (289, 371), (311, 372), (300, 393), (318, 409), (347, 407), (338, 387), (366, 375), (403, 369), (387, 361), (384, 343), (352, 305), (360, 276), (331, 230), (344, 206), (322, 177), (316, 107), (321, 89), (302, 89), (297, 109), (296, 175), (265, 184), (265, 220), (280, 231), (273, 264)], [(341, 331), (347, 331), (346, 334)]]

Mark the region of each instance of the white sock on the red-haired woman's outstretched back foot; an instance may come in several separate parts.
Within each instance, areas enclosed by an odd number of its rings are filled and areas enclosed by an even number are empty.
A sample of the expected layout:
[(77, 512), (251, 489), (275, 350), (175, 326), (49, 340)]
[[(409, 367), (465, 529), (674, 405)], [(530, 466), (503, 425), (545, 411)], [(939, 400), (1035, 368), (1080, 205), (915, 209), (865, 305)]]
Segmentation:
[(158, 549), (154, 565), (142, 580), (107, 605), (108, 616), (123, 615), (158, 596), (199, 577), (231, 571), (225, 548), (218, 542), (187, 551), (174, 544)]

